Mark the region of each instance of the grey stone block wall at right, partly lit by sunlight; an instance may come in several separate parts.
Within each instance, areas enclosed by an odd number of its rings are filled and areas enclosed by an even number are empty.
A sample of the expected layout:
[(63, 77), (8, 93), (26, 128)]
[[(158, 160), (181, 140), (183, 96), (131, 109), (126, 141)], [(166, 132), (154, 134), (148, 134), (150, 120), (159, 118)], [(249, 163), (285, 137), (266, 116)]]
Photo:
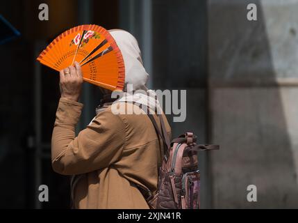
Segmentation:
[(295, 0), (208, 1), (213, 208), (298, 207), (297, 10)]

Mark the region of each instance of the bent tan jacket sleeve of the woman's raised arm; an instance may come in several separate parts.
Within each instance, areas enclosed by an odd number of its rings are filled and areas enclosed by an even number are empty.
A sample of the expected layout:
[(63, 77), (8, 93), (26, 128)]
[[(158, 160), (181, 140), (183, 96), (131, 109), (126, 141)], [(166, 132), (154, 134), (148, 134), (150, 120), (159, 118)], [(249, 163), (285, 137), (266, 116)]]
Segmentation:
[(53, 170), (59, 174), (83, 174), (108, 167), (119, 160), (125, 128), (110, 109), (101, 112), (75, 137), (75, 125), (83, 105), (61, 98), (51, 140)]

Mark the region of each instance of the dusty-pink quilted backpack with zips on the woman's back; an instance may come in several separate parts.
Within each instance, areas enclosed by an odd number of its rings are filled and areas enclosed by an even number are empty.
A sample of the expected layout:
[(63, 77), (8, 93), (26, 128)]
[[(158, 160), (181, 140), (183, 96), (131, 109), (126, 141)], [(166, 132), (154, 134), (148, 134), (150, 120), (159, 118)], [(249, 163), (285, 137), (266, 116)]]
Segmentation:
[(170, 142), (162, 116), (158, 115), (160, 131), (154, 116), (147, 115), (156, 134), (163, 140), (165, 150), (161, 152), (163, 162), (158, 172), (156, 194), (144, 187), (140, 187), (140, 191), (151, 209), (199, 209), (200, 171), (197, 153), (219, 149), (220, 146), (197, 144), (197, 137), (192, 132), (181, 134)]

